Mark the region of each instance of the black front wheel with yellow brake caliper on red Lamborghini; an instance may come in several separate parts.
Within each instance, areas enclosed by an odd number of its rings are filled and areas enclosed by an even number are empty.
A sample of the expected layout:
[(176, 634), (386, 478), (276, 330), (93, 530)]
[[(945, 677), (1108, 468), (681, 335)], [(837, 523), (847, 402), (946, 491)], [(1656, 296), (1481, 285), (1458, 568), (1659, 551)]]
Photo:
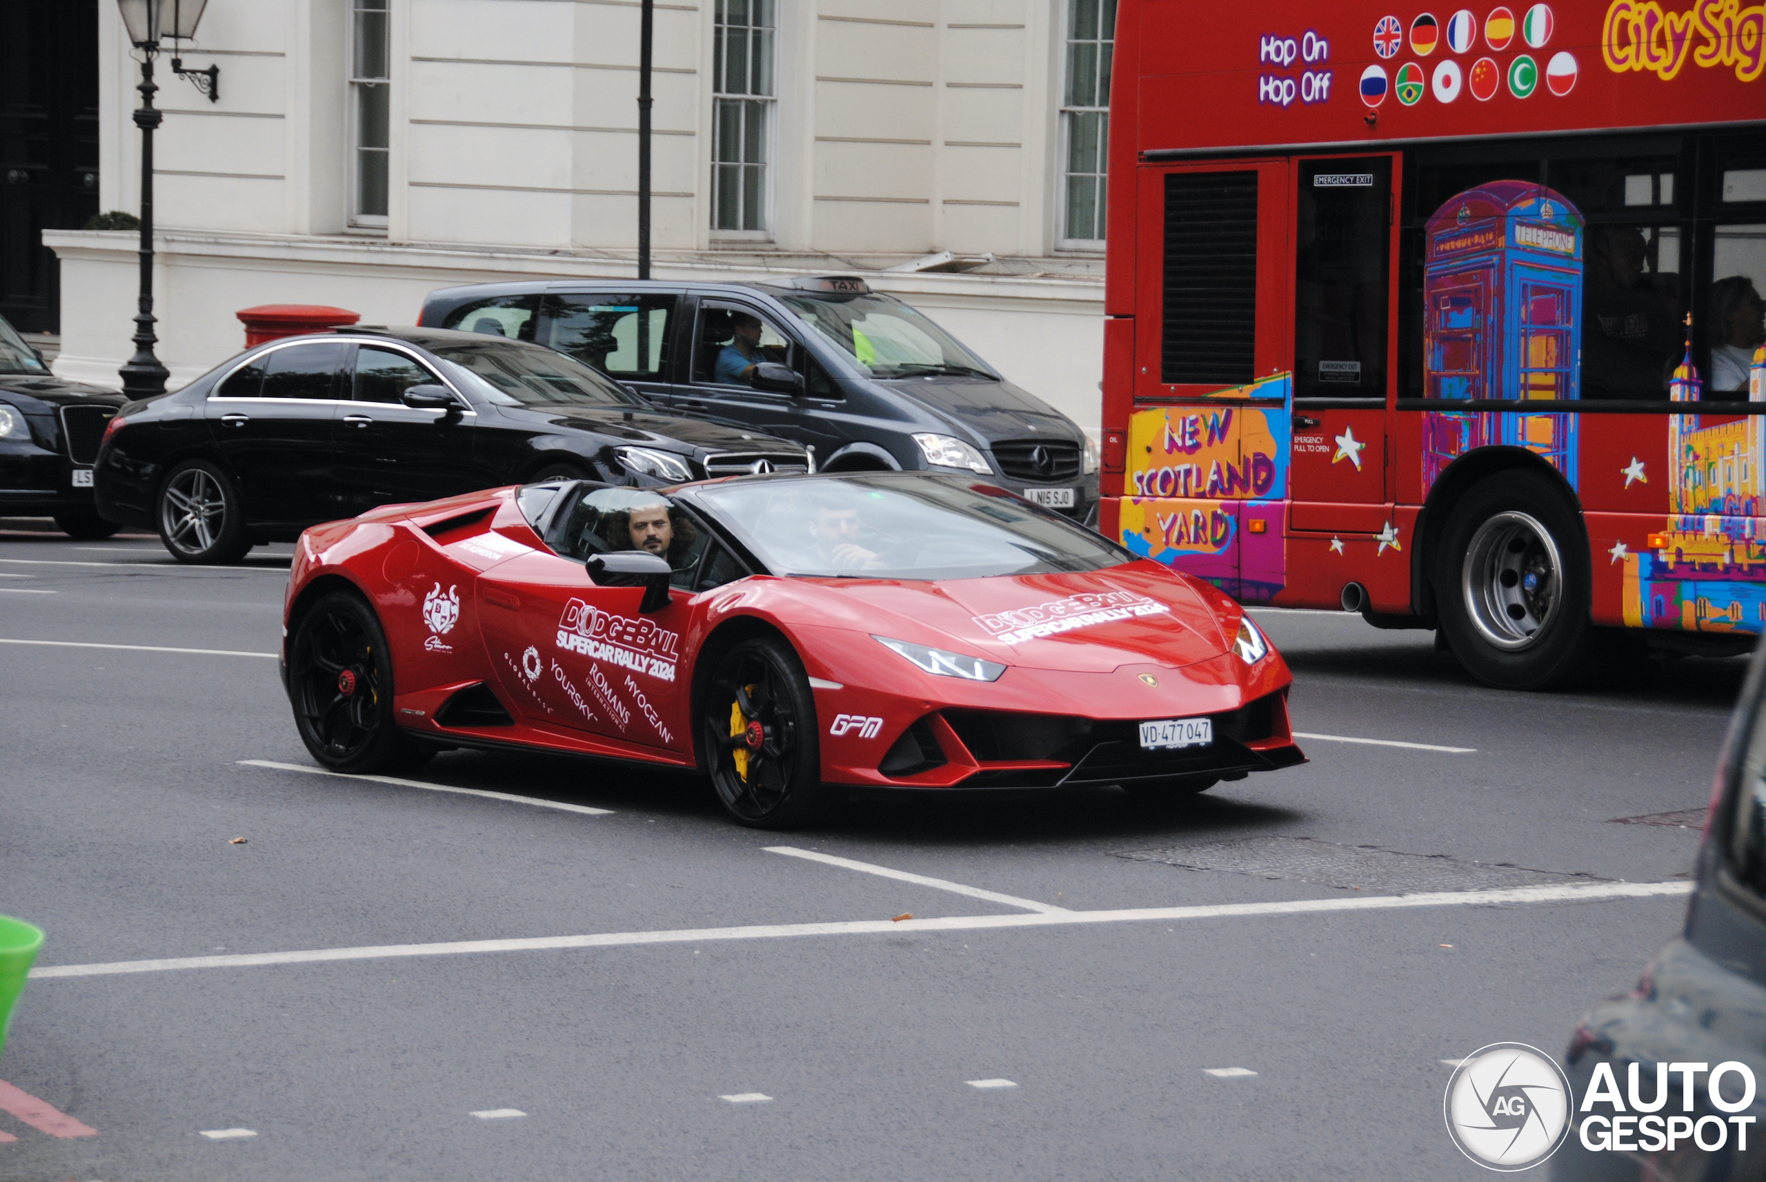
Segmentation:
[(754, 829), (789, 829), (823, 815), (816, 700), (804, 663), (774, 637), (722, 656), (705, 695), (701, 752), (717, 799)]

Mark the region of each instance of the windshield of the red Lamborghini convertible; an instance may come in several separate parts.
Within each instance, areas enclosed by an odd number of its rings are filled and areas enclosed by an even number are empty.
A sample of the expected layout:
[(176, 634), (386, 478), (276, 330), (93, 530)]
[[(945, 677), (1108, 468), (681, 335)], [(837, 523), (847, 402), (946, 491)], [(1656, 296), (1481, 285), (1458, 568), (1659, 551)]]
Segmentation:
[(1100, 570), (1134, 556), (1005, 489), (855, 473), (703, 485), (694, 499), (781, 575), (985, 579)]

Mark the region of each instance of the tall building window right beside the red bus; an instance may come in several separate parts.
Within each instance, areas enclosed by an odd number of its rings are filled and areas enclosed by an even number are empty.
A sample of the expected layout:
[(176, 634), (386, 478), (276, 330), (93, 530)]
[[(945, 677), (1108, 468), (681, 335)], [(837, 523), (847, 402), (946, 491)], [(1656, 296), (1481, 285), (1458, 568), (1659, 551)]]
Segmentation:
[(1061, 236), (1072, 245), (1104, 240), (1109, 171), (1109, 65), (1116, 0), (1068, 0)]

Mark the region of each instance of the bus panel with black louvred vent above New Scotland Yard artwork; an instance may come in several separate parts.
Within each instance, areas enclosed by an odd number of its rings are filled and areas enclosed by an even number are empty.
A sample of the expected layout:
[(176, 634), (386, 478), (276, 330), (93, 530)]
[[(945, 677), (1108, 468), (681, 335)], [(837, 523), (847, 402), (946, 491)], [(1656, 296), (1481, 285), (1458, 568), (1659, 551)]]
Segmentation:
[(1268, 600), (1287, 497), (1287, 161), (1148, 166), (1136, 199), (1136, 302), (1157, 312), (1136, 332), (1121, 542)]

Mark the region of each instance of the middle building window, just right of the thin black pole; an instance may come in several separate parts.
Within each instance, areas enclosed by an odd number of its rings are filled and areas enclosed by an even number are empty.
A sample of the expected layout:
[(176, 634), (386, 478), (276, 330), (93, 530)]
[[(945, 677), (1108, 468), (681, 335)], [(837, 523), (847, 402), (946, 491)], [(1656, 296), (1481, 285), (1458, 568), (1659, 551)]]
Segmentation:
[(774, 0), (715, 0), (712, 229), (766, 229), (774, 120)]

